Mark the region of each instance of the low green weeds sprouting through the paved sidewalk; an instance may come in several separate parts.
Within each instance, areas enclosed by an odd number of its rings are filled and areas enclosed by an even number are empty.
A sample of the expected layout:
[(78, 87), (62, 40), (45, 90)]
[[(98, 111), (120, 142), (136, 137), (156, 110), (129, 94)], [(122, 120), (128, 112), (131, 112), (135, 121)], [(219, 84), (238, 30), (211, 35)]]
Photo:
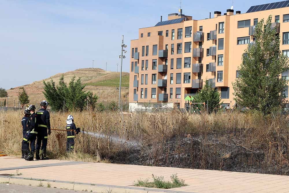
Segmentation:
[(152, 174), (153, 181), (149, 179), (139, 179), (137, 182), (134, 182), (135, 186), (147, 187), (147, 188), (162, 188), (162, 189), (170, 189), (170, 188), (179, 188), (182, 186), (187, 186), (183, 179), (179, 179), (177, 174), (171, 175), (171, 181), (165, 181), (163, 176), (154, 176)]

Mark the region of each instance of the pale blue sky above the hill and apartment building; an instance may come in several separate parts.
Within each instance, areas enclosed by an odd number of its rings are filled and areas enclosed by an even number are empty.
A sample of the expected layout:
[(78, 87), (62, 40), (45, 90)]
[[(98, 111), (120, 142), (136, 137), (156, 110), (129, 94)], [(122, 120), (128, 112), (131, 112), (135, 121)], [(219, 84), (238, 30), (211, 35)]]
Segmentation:
[[(235, 0), (234, 10), (276, 1)], [(56, 73), (95, 67), (116, 71), (121, 35), (128, 45), (138, 28), (155, 25), (160, 16), (177, 13), (171, 0), (0, 0), (0, 87), (10, 89)], [(224, 13), (231, 0), (182, 0), (183, 14), (193, 19)], [(120, 65), (119, 65), (120, 66)], [(119, 68), (118, 68), (119, 69)], [(123, 60), (129, 71), (129, 57)]]

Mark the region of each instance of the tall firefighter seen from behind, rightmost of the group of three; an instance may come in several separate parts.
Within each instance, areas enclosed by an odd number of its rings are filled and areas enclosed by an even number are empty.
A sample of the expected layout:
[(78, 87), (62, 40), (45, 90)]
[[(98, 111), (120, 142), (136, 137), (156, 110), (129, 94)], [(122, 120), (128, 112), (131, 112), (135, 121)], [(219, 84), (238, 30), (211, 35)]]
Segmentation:
[[(46, 111), (48, 106), (48, 102), (46, 100), (43, 100), (40, 102), (40, 107), (36, 114), (38, 116), (38, 127), (39, 131), (37, 134), (37, 142), (36, 142), (36, 156), (35, 159), (40, 159), (39, 153), (40, 153), (40, 146), (41, 146), (41, 159), (42, 160), (47, 160), (49, 157), (46, 156), (46, 147), (47, 147), (47, 139), (48, 135), (51, 134), (50, 130), (50, 114), (48, 111)], [(48, 130), (48, 133), (47, 133)], [(48, 135), (47, 135), (48, 134)]]

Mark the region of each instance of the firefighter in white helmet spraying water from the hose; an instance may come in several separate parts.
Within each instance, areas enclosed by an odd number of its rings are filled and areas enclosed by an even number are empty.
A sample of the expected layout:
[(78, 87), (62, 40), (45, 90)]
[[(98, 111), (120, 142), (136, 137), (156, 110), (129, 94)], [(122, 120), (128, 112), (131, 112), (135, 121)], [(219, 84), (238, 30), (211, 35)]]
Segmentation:
[(73, 151), (74, 149), (74, 138), (75, 135), (80, 132), (80, 128), (76, 128), (73, 116), (68, 115), (66, 120), (66, 130), (67, 130), (67, 142), (66, 142), (66, 152)]

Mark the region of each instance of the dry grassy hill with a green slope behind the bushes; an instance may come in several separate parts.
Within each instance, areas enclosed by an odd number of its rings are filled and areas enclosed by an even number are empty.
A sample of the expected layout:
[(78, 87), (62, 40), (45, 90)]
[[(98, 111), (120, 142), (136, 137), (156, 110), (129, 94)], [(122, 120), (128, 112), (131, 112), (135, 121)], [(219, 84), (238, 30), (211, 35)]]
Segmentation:
[[(119, 87), (119, 72), (105, 71), (100, 68), (83, 68), (74, 71), (68, 71), (65, 73), (58, 73), (54, 76), (44, 79), (44, 81), (53, 80), (58, 84), (59, 78), (64, 75), (64, 81), (68, 83), (73, 76), (75, 78), (81, 78), (81, 82), (86, 85), (85, 90), (91, 91), (97, 95), (100, 95), (100, 101), (107, 103), (108, 95), (109, 99), (117, 101), (118, 100), (118, 87)], [(129, 73), (122, 73), (122, 95), (123, 97), (128, 94), (129, 86)], [(19, 88), (24, 87), (27, 94), (29, 95), (30, 103), (37, 104), (41, 100), (45, 100), (43, 91), (43, 80), (32, 82), (31, 84), (15, 87), (7, 91), (9, 96), (9, 107), (14, 106), (14, 101), (16, 101), (15, 106), (18, 101)], [(4, 98), (0, 98), (3, 103)], [(12, 101), (12, 102), (11, 102)]]

